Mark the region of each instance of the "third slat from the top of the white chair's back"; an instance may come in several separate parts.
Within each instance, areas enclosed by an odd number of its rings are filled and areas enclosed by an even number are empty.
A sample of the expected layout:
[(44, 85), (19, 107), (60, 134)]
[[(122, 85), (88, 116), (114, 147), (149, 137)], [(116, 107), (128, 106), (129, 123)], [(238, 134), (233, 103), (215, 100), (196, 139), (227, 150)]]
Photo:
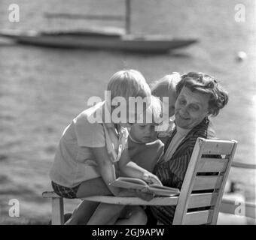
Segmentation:
[(197, 175), (193, 190), (218, 189), (221, 187), (222, 175)]

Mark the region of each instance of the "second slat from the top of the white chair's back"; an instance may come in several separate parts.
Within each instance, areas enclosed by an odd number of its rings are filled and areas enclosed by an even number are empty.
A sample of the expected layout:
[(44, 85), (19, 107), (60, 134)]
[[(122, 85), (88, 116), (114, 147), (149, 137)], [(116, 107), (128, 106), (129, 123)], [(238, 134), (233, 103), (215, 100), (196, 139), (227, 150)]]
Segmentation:
[(197, 172), (224, 172), (227, 163), (227, 158), (203, 157), (200, 160)]

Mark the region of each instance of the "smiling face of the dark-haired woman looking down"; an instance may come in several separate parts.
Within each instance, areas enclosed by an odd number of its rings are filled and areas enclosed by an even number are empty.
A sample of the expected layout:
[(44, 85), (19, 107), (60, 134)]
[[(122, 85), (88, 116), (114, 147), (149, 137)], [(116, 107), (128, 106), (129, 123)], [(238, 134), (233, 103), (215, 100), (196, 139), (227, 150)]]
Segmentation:
[(178, 127), (192, 129), (209, 115), (209, 95), (181, 89), (175, 103), (175, 122)]

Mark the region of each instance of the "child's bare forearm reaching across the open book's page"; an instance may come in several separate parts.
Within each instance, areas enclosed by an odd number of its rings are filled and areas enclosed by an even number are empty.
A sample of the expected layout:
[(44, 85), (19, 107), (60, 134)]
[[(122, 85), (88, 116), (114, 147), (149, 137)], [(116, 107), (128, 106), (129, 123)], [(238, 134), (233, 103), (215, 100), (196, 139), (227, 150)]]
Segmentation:
[(156, 175), (148, 172), (148, 170), (138, 166), (136, 163), (130, 160), (129, 151), (126, 148), (118, 162), (120, 170), (131, 178), (141, 178), (148, 183), (154, 183), (162, 185), (161, 181), (157, 178)]

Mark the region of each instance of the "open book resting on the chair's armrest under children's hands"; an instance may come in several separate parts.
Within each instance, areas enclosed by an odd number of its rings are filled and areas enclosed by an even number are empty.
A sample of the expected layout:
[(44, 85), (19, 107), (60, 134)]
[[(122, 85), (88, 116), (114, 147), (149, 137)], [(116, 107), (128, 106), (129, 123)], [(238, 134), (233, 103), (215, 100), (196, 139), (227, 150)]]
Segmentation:
[(139, 178), (119, 177), (116, 180), (112, 181), (110, 185), (113, 187), (123, 187), (127, 189), (139, 190), (148, 188), (148, 190), (151, 190), (154, 194), (160, 196), (174, 196), (180, 193), (178, 188), (159, 186), (157, 184), (149, 185), (147, 182)]

